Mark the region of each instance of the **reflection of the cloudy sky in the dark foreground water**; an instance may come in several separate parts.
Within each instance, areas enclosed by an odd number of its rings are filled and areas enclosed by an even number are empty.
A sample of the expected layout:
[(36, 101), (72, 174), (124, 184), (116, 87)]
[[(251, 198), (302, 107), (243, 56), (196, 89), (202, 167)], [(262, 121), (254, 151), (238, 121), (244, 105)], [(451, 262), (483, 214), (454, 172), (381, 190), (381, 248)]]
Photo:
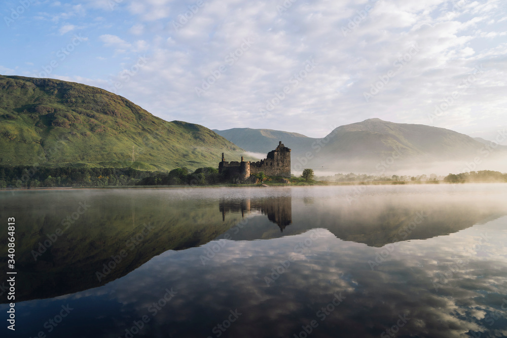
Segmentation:
[[(498, 313), (507, 295), (507, 277), (501, 273), (507, 269), (506, 221), (503, 217), (449, 236), (400, 242), (378, 271), (371, 271), (367, 264), (377, 248), (339, 240), (327, 230), (319, 230), (320, 236), (302, 254), (294, 254), (294, 248), (309, 233), (229, 241), (202, 266), (199, 255), (211, 242), (167, 251), (124, 278), (84, 291), (87, 297), (78, 293), (67, 301), (84, 305), (100, 298), (105, 308), (110, 303), (122, 304), (121, 312), (107, 313), (116, 323), (104, 327), (111, 334), (120, 334), (132, 320), (150, 315), (150, 304), (171, 287), (178, 293), (153, 317), (145, 333), (208, 336), (231, 309), (238, 309), (242, 316), (226, 336), (292, 336), (313, 319), (319, 323), (313, 333), (316, 337), (336, 336), (338, 328), (342, 336), (378, 336), (402, 313), (408, 313), (410, 320), (399, 336), (488, 332), (492, 328), (487, 316)], [(494, 234), (483, 247), (487, 258), (477, 256), (474, 249), (483, 232)], [(267, 287), (264, 276), (289, 255), (294, 258), (291, 266)], [(466, 264), (450, 276), (445, 288), (435, 291), (434, 276), (458, 259)], [(344, 302), (320, 321), (317, 311), (340, 292), (346, 297)], [(105, 311), (97, 309), (96, 315)], [(506, 327), (497, 321), (495, 329), (503, 332)]]

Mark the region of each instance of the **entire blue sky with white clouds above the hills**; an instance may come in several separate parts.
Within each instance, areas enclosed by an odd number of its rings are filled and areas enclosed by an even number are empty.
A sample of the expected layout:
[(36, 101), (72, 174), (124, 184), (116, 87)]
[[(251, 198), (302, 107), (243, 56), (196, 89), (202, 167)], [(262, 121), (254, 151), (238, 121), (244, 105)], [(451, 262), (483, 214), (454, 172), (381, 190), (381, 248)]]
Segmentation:
[(7, 0), (0, 74), (167, 121), (324, 137), (370, 118), (507, 144), (504, 0)]

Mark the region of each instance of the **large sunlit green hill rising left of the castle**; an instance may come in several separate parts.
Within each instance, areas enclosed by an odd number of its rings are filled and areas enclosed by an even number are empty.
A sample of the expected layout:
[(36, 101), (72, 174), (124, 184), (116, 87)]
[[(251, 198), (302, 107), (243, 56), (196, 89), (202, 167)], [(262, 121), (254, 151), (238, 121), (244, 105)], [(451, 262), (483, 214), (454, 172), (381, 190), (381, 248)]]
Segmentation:
[[(132, 162), (132, 148), (135, 162)], [(0, 164), (216, 167), (244, 151), (197, 124), (167, 122), (82, 84), (0, 76)]]

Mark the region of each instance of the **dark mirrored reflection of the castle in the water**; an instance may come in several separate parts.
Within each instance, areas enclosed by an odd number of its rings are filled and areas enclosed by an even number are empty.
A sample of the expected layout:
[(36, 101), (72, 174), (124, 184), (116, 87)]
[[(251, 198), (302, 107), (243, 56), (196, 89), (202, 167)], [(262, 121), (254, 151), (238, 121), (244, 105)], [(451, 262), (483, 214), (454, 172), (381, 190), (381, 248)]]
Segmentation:
[(244, 217), (251, 211), (261, 211), (268, 215), (270, 221), (280, 227), (280, 232), (283, 232), (283, 229), (292, 223), (292, 198), (290, 196), (260, 200), (222, 200), (219, 208), (223, 220), (225, 220), (226, 212), (241, 211), (241, 217)]

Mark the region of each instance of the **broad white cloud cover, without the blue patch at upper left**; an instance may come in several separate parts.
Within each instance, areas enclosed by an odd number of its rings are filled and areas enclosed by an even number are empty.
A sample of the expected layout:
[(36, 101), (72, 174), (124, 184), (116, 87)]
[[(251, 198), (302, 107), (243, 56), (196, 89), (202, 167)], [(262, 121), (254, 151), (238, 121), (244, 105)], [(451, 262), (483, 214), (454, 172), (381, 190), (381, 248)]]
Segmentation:
[[(95, 0), (86, 4), (98, 8)], [(105, 18), (97, 24), (111, 27), (114, 20), (108, 13), (124, 18), (123, 30), (98, 38), (114, 49), (112, 56), (150, 55), (142, 71), (119, 90), (122, 96), (166, 120), (322, 137), (332, 125), (373, 117), (432, 124), (428, 114), (434, 105), (483, 64), (487, 71), (481, 79), (433, 125), (472, 133), (490, 127), (484, 117), (505, 120), (507, 67), (499, 60), (507, 54), (501, 23), (507, 16), (499, 0), (317, 0), (295, 2), (282, 13), (277, 6), (283, 1), (204, 4), (187, 18), (180, 15), (192, 3), (167, 0), (125, 0), (113, 11), (100, 13)], [(367, 5), (371, 10), (365, 15)], [(173, 22), (180, 26), (176, 29)], [(351, 29), (344, 34), (342, 27)], [(241, 50), (248, 37), (255, 43)], [(401, 62), (416, 43), (420, 51)], [(312, 58), (316, 67), (291, 87), (295, 74)], [(221, 66), (219, 77), (210, 78)], [(395, 76), (366, 102), (364, 93), (391, 69)], [(208, 80), (213, 83), (209, 88), (205, 84), (207, 89), (198, 96), (195, 88)], [(286, 86), (291, 92), (268, 114), (260, 114)], [(161, 91), (164, 95), (153, 94)]]

